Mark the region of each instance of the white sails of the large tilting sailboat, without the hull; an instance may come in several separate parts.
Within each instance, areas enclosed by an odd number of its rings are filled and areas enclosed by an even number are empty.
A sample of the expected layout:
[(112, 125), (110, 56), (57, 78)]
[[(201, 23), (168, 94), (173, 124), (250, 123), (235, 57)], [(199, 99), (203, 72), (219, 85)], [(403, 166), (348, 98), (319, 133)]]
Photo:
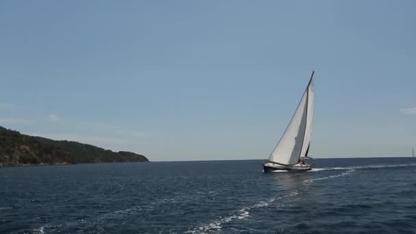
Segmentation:
[(313, 83), (311, 77), (294, 116), (270, 155), (269, 161), (284, 165), (297, 164), (300, 156), (305, 156), (308, 151), (311, 142), (312, 120)]

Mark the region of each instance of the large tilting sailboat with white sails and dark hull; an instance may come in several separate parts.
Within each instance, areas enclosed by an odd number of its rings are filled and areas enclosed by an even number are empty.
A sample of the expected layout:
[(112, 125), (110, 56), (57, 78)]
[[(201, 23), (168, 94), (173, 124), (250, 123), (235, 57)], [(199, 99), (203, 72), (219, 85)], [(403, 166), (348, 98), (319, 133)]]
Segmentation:
[(274, 147), (268, 160), (263, 164), (263, 172), (279, 170), (305, 171), (311, 170), (306, 164), (309, 146), (311, 146), (312, 120), (313, 120), (313, 73), (308, 86), (300, 99), (298, 107), (292, 116), (289, 125), (283, 133), (281, 140)]

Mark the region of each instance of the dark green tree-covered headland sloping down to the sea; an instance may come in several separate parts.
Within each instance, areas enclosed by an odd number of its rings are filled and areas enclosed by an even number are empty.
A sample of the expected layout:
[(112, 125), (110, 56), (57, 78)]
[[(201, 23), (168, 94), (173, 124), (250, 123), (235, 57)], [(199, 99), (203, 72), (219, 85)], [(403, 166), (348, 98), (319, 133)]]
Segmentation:
[(90, 144), (21, 134), (0, 126), (0, 167), (148, 161), (143, 155), (113, 152)]

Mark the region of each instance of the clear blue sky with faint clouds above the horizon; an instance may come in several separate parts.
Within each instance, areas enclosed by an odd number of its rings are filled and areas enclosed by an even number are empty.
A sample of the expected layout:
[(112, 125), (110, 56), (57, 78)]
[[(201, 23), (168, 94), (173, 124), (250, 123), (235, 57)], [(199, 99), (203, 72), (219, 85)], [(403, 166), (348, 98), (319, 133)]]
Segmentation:
[(0, 126), (151, 161), (411, 155), (416, 2), (0, 1)]

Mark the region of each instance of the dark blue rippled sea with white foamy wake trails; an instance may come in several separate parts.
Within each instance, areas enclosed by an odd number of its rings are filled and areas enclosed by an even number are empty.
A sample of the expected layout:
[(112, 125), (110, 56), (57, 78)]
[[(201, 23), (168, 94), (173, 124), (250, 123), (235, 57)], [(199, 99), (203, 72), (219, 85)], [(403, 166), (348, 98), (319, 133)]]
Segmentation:
[(416, 233), (416, 158), (0, 168), (0, 233)]

